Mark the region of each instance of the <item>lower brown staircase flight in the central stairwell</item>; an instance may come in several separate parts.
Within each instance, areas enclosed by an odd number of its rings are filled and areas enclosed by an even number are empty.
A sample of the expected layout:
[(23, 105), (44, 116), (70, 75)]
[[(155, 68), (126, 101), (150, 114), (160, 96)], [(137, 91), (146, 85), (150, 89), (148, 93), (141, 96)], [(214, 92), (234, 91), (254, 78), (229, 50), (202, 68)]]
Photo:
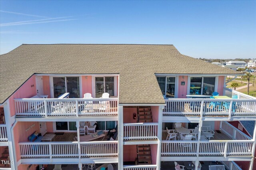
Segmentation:
[(152, 164), (151, 150), (149, 144), (137, 145), (137, 165), (148, 165)]

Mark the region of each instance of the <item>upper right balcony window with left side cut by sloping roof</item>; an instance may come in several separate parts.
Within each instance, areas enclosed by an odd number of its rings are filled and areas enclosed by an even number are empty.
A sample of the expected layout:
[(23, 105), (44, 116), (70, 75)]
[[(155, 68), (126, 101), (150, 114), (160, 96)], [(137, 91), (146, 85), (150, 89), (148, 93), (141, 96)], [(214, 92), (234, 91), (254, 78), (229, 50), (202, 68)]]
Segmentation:
[(164, 97), (175, 97), (175, 77), (156, 77)]

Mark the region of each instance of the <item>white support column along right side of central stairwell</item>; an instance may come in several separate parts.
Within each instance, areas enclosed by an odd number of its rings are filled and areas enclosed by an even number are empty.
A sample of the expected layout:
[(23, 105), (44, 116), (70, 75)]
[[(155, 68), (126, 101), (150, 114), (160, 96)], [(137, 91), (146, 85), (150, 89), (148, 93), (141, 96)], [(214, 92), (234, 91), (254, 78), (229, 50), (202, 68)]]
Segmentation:
[(163, 109), (164, 106), (159, 106), (158, 108), (158, 148), (156, 156), (156, 169), (160, 170), (161, 168), (161, 146), (162, 146), (162, 126), (163, 126)]

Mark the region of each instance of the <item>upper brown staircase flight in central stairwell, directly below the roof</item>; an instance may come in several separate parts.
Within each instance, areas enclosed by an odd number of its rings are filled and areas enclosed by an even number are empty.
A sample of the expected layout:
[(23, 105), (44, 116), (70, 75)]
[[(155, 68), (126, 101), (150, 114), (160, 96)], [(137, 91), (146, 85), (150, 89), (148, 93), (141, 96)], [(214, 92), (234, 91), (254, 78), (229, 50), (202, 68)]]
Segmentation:
[(138, 106), (137, 107), (138, 120), (137, 123), (152, 123), (153, 116), (150, 106)]

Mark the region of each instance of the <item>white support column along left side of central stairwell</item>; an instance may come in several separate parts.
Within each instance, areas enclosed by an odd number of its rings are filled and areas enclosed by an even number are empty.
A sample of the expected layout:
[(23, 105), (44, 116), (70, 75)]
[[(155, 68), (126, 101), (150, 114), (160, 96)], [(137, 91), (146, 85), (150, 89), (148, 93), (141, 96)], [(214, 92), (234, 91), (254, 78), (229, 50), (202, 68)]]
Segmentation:
[(123, 169), (123, 136), (124, 136), (124, 116), (123, 116), (124, 108), (123, 106), (118, 106), (118, 169)]

